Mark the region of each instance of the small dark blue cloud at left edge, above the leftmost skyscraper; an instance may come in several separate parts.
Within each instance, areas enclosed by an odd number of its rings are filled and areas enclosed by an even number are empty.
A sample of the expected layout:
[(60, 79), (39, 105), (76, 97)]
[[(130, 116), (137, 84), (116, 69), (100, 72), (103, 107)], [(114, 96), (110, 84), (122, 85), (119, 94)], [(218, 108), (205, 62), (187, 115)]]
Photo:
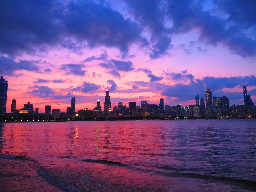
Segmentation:
[(14, 75), (16, 70), (38, 71), (39, 67), (31, 61), (16, 62), (8, 57), (0, 56), (0, 71), (2, 75)]

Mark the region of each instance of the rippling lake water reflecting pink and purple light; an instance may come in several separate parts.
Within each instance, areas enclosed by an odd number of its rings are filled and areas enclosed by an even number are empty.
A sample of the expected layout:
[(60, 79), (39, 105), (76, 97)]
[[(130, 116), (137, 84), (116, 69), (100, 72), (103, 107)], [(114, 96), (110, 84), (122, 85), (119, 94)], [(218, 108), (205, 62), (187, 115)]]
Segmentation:
[(0, 191), (256, 191), (256, 119), (0, 124)]

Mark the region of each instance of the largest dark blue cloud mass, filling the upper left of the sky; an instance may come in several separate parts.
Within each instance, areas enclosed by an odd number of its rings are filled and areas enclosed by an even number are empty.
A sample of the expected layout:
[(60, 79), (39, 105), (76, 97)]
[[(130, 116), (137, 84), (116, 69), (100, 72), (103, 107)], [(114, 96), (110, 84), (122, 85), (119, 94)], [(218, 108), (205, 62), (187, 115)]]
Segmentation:
[(146, 41), (136, 22), (93, 1), (0, 1), (0, 12), (0, 51), (9, 55), (47, 50), (51, 45), (74, 49), (83, 47), (83, 41), (89, 47), (128, 52), (132, 43)]

